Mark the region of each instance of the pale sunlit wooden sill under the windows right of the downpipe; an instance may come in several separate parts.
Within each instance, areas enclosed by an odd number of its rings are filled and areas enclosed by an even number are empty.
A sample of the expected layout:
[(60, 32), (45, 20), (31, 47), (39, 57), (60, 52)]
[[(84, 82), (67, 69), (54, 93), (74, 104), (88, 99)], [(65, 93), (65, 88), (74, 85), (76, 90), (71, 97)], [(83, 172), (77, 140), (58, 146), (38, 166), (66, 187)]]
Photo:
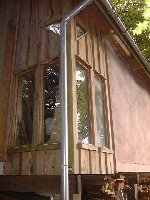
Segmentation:
[(92, 144), (84, 144), (84, 143), (78, 143), (77, 144), (78, 149), (86, 149), (91, 151), (99, 151), (102, 153), (108, 153), (108, 154), (114, 154), (112, 149), (108, 149), (107, 147), (98, 147), (94, 146)]

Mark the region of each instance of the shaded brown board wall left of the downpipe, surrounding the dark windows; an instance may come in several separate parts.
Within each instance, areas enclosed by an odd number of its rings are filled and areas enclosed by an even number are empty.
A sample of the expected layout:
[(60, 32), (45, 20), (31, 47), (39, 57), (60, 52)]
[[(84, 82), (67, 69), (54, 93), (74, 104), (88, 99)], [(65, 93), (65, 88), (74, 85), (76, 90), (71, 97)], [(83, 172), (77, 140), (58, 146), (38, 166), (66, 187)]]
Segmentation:
[(4, 174), (60, 174), (60, 145), (12, 149), (10, 141), (15, 75), (30, 68), (40, 71), (41, 65), (59, 57), (59, 36), (46, 26), (60, 21), (69, 8), (70, 1), (62, 0), (0, 1), (0, 159)]

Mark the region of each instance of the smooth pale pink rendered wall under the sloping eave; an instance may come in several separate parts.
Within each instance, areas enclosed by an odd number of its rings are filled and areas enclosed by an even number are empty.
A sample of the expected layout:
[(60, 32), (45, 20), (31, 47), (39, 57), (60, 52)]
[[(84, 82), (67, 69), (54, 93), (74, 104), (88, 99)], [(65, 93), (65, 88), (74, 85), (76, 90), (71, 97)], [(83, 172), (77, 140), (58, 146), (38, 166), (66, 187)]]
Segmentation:
[(116, 170), (150, 171), (150, 87), (107, 52)]

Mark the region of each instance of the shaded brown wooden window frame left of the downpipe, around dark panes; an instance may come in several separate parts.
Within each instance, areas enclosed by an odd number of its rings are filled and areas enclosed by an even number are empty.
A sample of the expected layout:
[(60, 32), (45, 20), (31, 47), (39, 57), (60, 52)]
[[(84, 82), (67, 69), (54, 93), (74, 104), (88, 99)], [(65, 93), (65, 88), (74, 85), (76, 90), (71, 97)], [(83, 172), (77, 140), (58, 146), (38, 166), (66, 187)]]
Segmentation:
[[(40, 63), (37, 66), (34, 66), (30, 69), (23, 69), (19, 72), (16, 72), (15, 77), (15, 88), (13, 90), (14, 100), (13, 105), (14, 108), (12, 110), (12, 126), (10, 129), (11, 135), (9, 140), (8, 152), (25, 152), (31, 150), (46, 150), (46, 149), (60, 149), (60, 143), (44, 143), (44, 68), (51, 64), (59, 64), (60, 59), (49, 60)], [(32, 134), (32, 142), (31, 145), (16, 145), (16, 114), (17, 114), (17, 96), (18, 96), (18, 77), (20, 75), (29, 73), (30, 71), (34, 71), (35, 74), (35, 94), (34, 94), (34, 114), (33, 114), (33, 134)], [(37, 100), (37, 101), (36, 101)], [(40, 118), (40, 119), (39, 119)]]

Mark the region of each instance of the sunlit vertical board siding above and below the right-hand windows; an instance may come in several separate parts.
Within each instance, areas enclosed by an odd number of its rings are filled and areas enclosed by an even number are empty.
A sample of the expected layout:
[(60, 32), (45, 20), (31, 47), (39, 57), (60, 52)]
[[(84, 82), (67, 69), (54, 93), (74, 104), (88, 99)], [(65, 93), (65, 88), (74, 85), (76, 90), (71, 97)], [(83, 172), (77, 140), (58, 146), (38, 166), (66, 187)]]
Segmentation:
[[(95, 12), (96, 13), (96, 12)], [(92, 69), (92, 77), (94, 73), (99, 74), (107, 80), (107, 61), (105, 49), (105, 36), (103, 29), (103, 21), (96, 15), (92, 9), (82, 11), (76, 21), (85, 30), (85, 35), (77, 39), (77, 58)], [(110, 126), (110, 105), (108, 94), (108, 82), (105, 81), (105, 114), (106, 124), (108, 125), (108, 151), (97, 147), (95, 139), (95, 148), (91, 145), (79, 145), (79, 173), (81, 174), (112, 174), (114, 173), (114, 159), (112, 151), (112, 138)], [(96, 115), (96, 113), (94, 113)], [(93, 145), (94, 146), (94, 145)], [(111, 151), (109, 151), (111, 150)]]

